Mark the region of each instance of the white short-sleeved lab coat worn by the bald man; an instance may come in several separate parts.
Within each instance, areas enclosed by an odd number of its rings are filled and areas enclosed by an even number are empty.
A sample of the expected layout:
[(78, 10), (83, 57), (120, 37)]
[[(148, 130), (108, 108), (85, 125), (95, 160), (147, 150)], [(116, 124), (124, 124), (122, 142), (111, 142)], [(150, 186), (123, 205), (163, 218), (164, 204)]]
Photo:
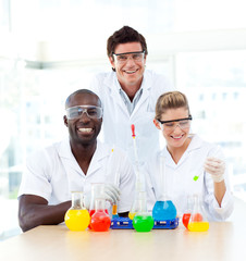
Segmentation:
[(71, 191), (90, 192), (91, 183), (115, 184), (114, 175), (120, 173), (118, 211), (130, 211), (135, 188), (134, 170), (125, 152), (118, 148), (111, 150), (98, 141), (86, 175), (71, 151), (69, 139), (37, 151), (27, 161), (19, 196), (36, 195), (49, 204), (58, 204), (71, 200)]

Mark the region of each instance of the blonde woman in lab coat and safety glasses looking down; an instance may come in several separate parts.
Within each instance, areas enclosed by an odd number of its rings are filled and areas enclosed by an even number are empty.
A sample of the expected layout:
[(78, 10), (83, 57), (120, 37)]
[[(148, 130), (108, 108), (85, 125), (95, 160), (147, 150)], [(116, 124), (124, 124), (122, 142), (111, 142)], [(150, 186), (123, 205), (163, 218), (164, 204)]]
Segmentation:
[[(192, 115), (188, 101), (180, 91), (165, 92), (156, 104), (153, 124), (162, 133), (167, 146), (145, 165), (148, 207), (152, 209), (161, 196), (160, 158), (165, 161), (167, 195), (184, 213), (187, 197), (200, 195), (208, 220), (223, 221), (233, 211), (227, 167), (217, 145), (190, 134)], [(194, 181), (194, 176), (199, 176)]]

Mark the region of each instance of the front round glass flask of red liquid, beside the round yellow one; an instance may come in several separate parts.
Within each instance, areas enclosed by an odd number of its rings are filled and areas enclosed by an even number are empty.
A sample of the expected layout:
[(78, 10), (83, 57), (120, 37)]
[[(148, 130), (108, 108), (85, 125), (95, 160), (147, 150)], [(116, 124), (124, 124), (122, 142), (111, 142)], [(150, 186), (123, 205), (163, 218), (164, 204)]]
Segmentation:
[(95, 200), (95, 213), (91, 215), (90, 227), (95, 232), (107, 232), (111, 225), (111, 220), (108, 213), (106, 213), (106, 200), (103, 198), (97, 198)]

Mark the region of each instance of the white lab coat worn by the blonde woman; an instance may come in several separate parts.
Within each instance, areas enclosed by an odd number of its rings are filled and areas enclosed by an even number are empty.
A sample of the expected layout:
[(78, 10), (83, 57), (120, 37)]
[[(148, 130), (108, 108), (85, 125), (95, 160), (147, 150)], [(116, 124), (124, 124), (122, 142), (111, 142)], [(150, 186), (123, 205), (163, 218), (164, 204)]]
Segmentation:
[[(230, 190), (227, 167), (224, 173), (226, 192), (223, 197), (221, 208), (213, 195), (213, 181), (211, 175), (206, 173), (202, 167), (207, 157), (223, 159), (222, 151), (218, 146), (204, 141), (197, 135), (190, 137), (192, 141), (177, 164), (173, 161), (167, 147), (146, 163), (144, 173), (147, 181), (148, 209), (152, 209), (156, 200), (161, 197), (163, 191), (159, 177), (160, 156), (162, 156), (165, 160), (165, 192), (175, 204), (179, 215), (182, 216), (186, 210), (187, 196), (198, 194), (201, 197), (208, 220), (225, 220), (233, 211), (233, 196)], [(201, 175), (198, 181), (195, 182), (193, 177), (200, 173)]]

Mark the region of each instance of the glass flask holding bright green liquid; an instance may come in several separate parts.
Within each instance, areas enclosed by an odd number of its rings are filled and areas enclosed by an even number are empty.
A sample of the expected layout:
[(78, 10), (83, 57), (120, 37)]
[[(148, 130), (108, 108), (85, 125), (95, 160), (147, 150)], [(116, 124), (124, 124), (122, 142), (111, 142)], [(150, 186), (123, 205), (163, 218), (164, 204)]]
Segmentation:
[(134, 219), (133, 227), (137, 232), (150, 232), (153, 227), (153, 219), (150, 212), (147, 212), (146, 192), (138, 192), (137, 209)]

